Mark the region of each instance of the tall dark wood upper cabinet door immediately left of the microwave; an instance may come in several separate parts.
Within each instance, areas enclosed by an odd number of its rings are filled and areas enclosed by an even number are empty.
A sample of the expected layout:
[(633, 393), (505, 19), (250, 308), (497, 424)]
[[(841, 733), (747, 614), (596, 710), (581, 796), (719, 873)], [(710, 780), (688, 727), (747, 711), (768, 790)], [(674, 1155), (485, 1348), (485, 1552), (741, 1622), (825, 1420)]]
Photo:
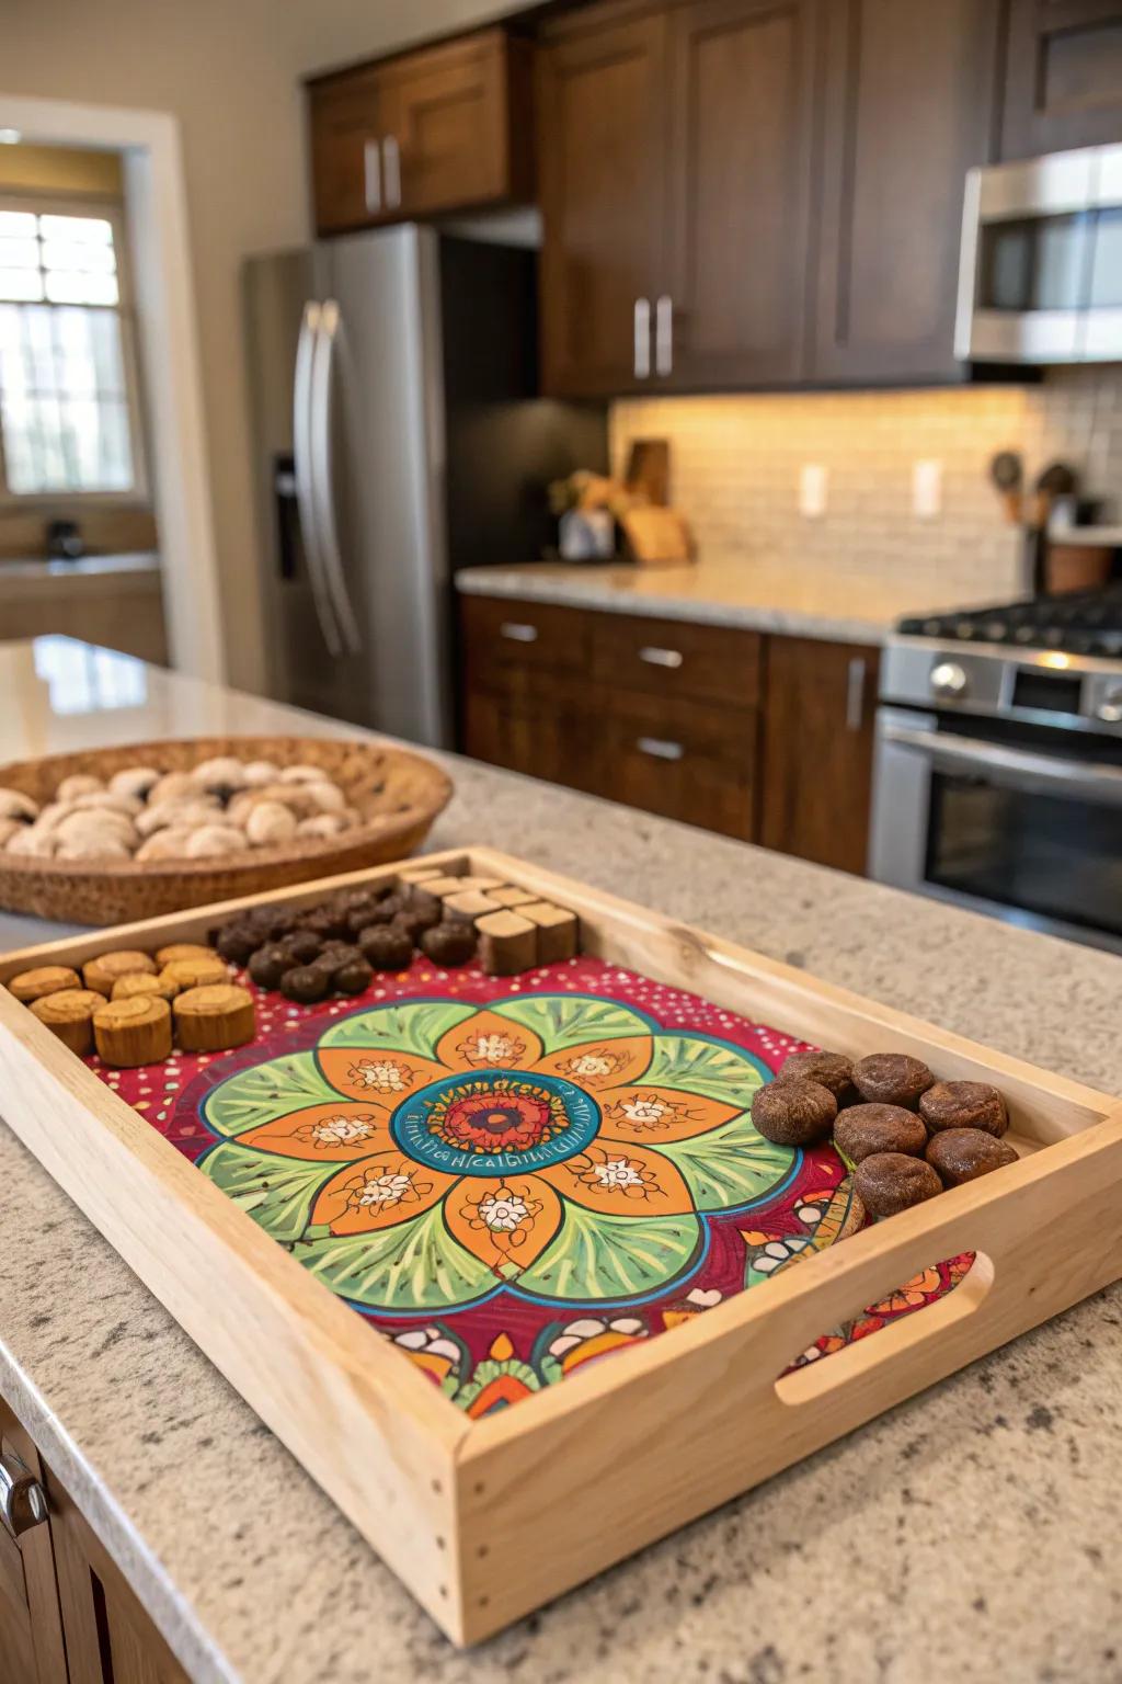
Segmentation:
[(994, 155), (1001, 0), (829, 0), (811, 376), (939, 381), (962, 192)]

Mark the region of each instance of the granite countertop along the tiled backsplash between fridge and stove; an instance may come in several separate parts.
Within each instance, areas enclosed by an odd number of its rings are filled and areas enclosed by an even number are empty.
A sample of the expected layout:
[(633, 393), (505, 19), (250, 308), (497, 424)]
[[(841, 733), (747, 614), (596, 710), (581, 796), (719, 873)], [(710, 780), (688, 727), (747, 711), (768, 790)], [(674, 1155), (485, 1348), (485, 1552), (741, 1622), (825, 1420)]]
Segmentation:
[(935, 589), (907, 578), (749, 556), (713, 556), (683, 568), (555, 561), (461, 568), (456, 589), (468, 596), (661, 615), (855, 643), (883, 643), (905, 615), (977, 606), (992, 596), (962, 584)]

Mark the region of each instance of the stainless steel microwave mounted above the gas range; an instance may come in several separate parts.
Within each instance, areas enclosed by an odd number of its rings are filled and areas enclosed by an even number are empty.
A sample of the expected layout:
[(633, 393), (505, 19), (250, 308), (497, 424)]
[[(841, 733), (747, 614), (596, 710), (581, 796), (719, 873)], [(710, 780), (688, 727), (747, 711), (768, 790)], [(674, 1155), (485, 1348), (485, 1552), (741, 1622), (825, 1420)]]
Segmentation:
[(1122, 362), (1122, 145), (969, 172), (954, 349)]

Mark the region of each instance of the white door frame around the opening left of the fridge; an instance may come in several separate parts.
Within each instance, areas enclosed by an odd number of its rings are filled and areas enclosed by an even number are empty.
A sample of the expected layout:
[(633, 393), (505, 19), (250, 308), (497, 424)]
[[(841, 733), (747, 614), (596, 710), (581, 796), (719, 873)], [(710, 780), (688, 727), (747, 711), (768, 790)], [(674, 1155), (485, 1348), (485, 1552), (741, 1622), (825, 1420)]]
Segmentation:
[(123, 153), (172, 665), (220, 684), (225, 652), (178, 120), (0, 93), (0, 126), (32, 143)]

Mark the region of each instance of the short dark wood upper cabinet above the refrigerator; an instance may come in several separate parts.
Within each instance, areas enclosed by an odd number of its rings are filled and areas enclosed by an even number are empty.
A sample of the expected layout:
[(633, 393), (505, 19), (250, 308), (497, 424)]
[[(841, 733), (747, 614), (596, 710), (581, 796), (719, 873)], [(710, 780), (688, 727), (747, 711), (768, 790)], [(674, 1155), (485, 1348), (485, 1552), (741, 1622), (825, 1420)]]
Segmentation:
[(488, 29), (315, 81), (316, 231), (530, 199), (532, 52)]

